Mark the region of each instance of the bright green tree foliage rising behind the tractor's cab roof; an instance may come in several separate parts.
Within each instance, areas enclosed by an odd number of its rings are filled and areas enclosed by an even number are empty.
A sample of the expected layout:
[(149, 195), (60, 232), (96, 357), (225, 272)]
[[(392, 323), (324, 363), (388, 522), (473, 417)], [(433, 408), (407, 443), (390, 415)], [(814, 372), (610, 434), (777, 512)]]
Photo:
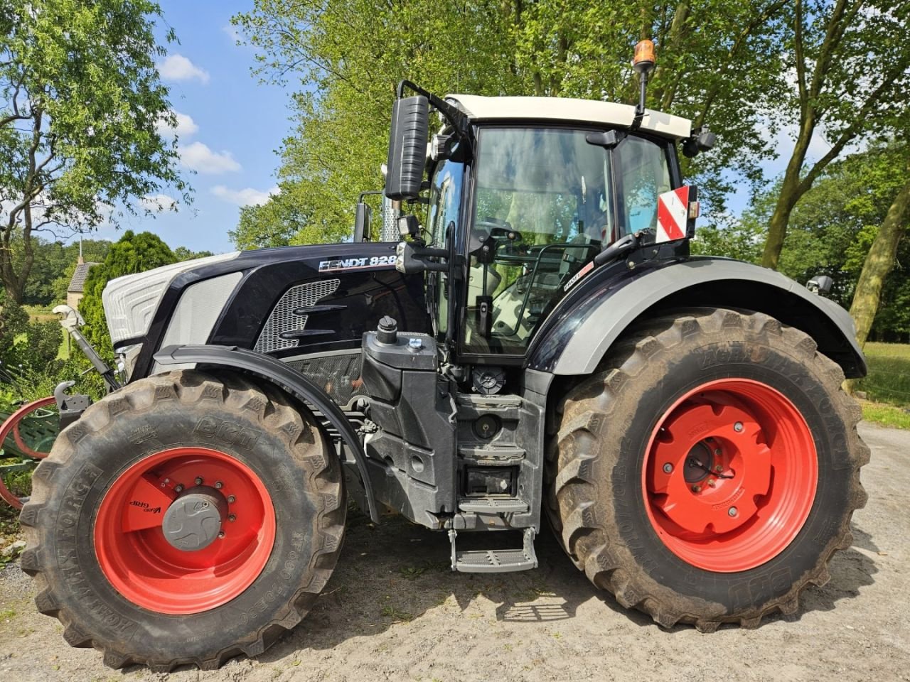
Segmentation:
[[(258, 51), (258, 74), (297, 88), (282, 147), (282, 192), (248, 207), (238, 246), (349, 236), (359, 192), (382, 186), (394, 87), (440, 94), (577, 96), (632, 103), (632, 45), (659, 46), (650, 104), (708, 122), (722, 143), (688, 168), (723, 204), (730, 165), (759, 180), (771, 154), (756, 135), (783, 92), (784, 0), (576, 3), (558, 0), (256, 0), (233, 21)], [(369, 39), (368, 37), (369, 36)]]

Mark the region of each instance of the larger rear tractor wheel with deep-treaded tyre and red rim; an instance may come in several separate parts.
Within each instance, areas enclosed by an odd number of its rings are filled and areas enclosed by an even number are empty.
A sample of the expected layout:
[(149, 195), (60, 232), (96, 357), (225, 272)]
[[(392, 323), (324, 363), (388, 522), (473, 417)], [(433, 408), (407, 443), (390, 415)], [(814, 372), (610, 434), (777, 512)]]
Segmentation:
[(865, 502), (840, 368), (799, 330), (723, 309), (652, 320), (603, 366), (549, 453), (572, 560), (665, 627), (793, 613)]

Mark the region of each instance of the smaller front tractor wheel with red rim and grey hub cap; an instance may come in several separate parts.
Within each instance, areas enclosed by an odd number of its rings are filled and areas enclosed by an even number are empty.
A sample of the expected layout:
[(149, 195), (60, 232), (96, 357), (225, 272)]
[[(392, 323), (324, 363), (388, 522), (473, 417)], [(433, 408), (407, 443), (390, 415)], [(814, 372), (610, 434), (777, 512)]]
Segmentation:
[(112, 667), (219, 666), (298, 624), (344, 532), (315, 420), (237, 376), (175, 372), (89, 407), (35, 470), (22, 567)]

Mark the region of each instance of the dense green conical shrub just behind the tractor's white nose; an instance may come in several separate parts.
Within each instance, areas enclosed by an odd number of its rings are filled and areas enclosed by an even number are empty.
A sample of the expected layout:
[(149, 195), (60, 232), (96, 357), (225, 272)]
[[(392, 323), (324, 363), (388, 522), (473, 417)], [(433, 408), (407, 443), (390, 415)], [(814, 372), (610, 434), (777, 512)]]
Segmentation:
[(171, 263), (177, 263), (177, 258), (159, 236), (151, 232), (136, 235), (132, 230), (126, 230), (110, 246), (104, 262), (88, 271), (86, 296), (79, 302), (79, 312), (86, 320), (82, 327), (83, 334), (99, 353), (108, 357), (114, 354), (107, 332), (105, 309), (101, 303), (101, 294), (107, 282), (114, 277), (145, 272)]

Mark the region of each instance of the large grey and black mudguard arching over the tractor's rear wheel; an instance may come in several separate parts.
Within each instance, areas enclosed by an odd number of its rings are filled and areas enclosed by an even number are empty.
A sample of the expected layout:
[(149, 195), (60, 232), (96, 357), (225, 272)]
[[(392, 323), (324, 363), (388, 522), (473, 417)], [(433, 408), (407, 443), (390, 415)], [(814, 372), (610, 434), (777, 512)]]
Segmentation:
[(621, 261), (595, 270), (586, 280), (542, 326), (529, 348), (527, 366), (556, 375), (589, 375), (640, 317), (673, 307), (713, 306), (773, 316), (812, 336), (845, 376), (866, 374), (849, 313), (773, 270), (696, 256), (632, 268)]

